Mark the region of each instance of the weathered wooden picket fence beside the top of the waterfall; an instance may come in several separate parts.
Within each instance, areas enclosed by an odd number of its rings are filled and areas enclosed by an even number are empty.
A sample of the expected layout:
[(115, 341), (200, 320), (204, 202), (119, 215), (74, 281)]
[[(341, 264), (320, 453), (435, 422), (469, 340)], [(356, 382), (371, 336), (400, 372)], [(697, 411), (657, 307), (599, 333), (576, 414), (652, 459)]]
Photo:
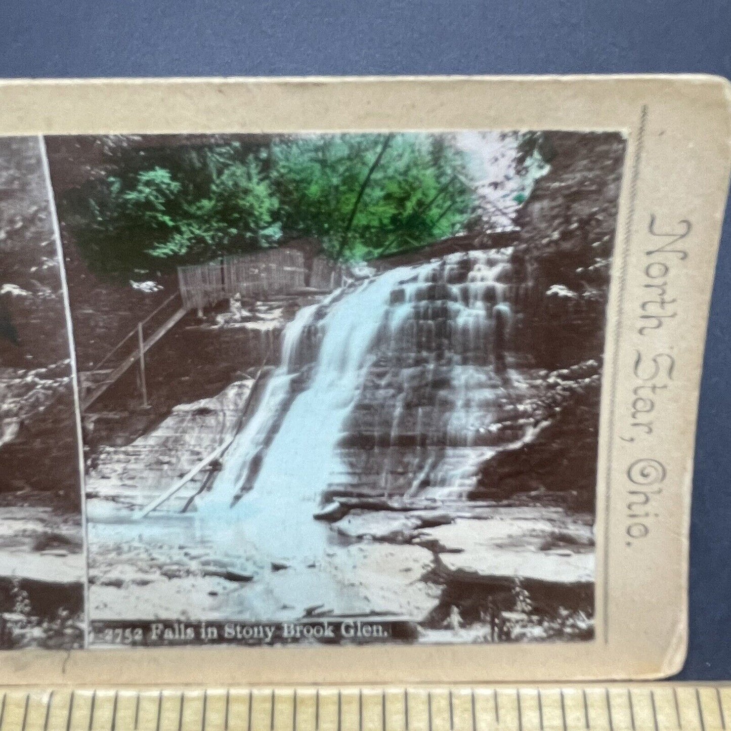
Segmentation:
[(301, 251), (286, 248), (178, 267), (178, 284), (186, 309), (200, 309), (234, 295), (257, 298), (304, 287), (329, 291), (341, 287), (343, 280), (341, 266), (315, 257), (308, 268)]

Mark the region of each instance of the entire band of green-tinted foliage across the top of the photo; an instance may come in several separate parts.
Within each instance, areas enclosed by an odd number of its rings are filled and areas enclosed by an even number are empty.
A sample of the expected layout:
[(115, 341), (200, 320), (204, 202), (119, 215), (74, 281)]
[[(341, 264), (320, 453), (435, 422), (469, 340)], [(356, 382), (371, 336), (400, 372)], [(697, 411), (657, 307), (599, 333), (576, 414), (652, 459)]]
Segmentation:
[(308, 135), (241, 143), (111, 145), (107, 174), (73, 190), (63, 216), (91, 268), (134, 272), (316, 238), (363, 261), (466, 226), (464, 154), (439, 135)]

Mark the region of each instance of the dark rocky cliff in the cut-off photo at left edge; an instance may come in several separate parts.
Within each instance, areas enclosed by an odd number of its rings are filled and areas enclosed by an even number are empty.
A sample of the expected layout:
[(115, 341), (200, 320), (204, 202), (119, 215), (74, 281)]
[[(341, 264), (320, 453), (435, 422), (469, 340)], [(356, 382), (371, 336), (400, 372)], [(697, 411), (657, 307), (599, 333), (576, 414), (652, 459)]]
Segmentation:
[(71, 354), (37, 137), (0, 140), (0, 258), (0, 420), (12, 436), (0, 447), (0, 494), (43, 490), (75, 509)]

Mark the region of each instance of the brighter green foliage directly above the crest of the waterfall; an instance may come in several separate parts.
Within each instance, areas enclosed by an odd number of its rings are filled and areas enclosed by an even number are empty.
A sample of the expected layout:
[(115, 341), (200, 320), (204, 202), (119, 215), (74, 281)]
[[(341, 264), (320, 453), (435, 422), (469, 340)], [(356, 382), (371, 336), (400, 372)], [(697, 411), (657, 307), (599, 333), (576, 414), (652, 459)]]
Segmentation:
[(284, 231), (318, 238), (336, 258), (417, 249), (474, 211), (463, 153), (439, 136), (289, 137), (271, 156)]

